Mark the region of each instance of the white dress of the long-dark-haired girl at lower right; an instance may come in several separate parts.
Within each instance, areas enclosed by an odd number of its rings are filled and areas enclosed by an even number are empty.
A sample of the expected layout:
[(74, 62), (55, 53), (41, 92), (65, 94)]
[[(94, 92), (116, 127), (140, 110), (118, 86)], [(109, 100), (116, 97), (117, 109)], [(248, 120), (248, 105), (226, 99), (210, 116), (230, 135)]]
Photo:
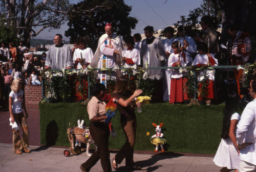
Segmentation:
[[(238, 113), (234, 113), (230, 120), (241, 119)], [(236, 134), (237, 129), (235, 130)], [(220, 167), (227, 167), (228, 169), (239, 169), (239, 156), (236, 147), (231, 139), (221, 139), (221, 143), (214, 157), (214, 163)]]

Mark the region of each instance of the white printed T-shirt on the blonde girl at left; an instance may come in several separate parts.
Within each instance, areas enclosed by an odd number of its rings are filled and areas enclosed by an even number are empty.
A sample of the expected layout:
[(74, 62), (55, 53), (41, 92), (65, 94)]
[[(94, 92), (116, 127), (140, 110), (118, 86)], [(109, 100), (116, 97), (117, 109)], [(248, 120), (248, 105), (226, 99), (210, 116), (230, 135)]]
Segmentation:
[(9, 97), (12, 97), (12, 112), (22, 113), (23, 90), (20, 89), (18, 93), (11, 91)]

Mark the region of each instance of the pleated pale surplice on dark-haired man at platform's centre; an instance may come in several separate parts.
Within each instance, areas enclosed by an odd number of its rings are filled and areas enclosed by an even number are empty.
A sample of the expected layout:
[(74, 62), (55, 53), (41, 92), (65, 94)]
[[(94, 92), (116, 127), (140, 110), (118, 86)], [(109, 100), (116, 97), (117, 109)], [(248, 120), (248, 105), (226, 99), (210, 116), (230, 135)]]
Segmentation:
[[(162, 67), (166, 62), (166, 55), (162, 42), (155, 38), (153, 43), (147, 44), (146, 39), (141, 44), (141, 58), (143, 67), (147, 63), (147, 67)], [(162, 69), (148, 69), (147, 73), (150, 79), (160, 80), (162, 78)]]

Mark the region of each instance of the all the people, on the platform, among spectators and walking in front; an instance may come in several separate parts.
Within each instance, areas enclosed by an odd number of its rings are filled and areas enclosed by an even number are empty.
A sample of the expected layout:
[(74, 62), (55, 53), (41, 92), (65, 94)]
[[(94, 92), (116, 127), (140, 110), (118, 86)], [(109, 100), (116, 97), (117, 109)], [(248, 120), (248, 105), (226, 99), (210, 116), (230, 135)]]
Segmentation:
[[(212, 20), (209, 16), (201, 18), (201, 27), (203, 35), (190, 37), (186, 35), (183, 26), (178, 27), (177, 37), (174, 38), (175, 30), (172, 27), (164, 29), (166, 39), (160, 40), (153, 36), (154, 28), (147, 26), (144, 28), (146, 39), (141, 41), (141, 35), (127, 36), (124, 39), (126, 48), (123, 48), (122, 39), (114, 33), (111, 23), (105, 25), (105, 34), (98, 41), (98, 47), (95, 52), (88, 46), (85, 37), (79, 37), (76, 46), (73, 49), (62, 42), (62, 35), (56, 34), (47, 53), (41, 56), (35, 56), (29, 53), (27, 47), (22, 42), (18, 47), (14, 43), (9, 43), (9, 48), (2, 44), (1, 48), (1, 97), (4, 97), (6, 104), (9, 103), (10, 121), (14, 125), (17, 122), (22, 126), (23, 138), (18, 137), (18, 130), (13, 130), (13, 145), (16, 154), (30, 153), (27, 149), (28, 127), (26, 118), (28, 113), (24, 104), (23, 85), (40, 85), (39, 71), (42, 69), (71, 69), (85, 68), (89, 64), (92, 67), (113, 68), (116, 65), (126, 67), (138, 65), (143, 67), (174, 67), (174, 66), (195, 66), (203, 67), (197, 74), (197, 81), (203, 80), (207, 76), (207, 105), (214, 99), (214, 81), (215, 70), (206, 67), (217, 66), (217, 55), (219, 52), (219, 41), (217, 33), (211, 29)], [(231, 63), (233, 65), (244, 64), (249, 60), (251, 51), (251, 40), (247, 33), (239, 31), (236, 26), (230, 26), (229, 34), (231, 41)], [(148, 77), (154, 83), (152, 93), (153, 102), (169, 101), (170, 104), (182, 103), (188, 99), (186, 94), (186, 82), (184, 78), (186, 71), (179, 69), (147, 69)], [(239, 99), (242, 97), (241, 77), (242, 71), (234, 69), (237, 79), (238, 93), (228, 94), (225, 108), (225, 118), (222, 132), (222, 142), (215, 157), (215, 163), (222, 166), (221, 171), (230, 171), (238, 169), (240, 171), (255, 171), (255, 100), (256, 100), (256, 78), (251, 80), (249, 93), (254, 99), (249, 103), (242, 114), (241, 120), (236, 113), (239, 105)], [(97, 76), (100, 83), (94, 85), (92, 89), (92, 99), (88, 104), (88, 114), (91, 121), (90, 132), (97, 145), (97, 150), (83, 164), (80, 165), (82, 171), (90, 169), (100, 159), (103, 171), (111, 171), (110, 153), (108, 148), (108, 139), (110, 131), (108, 125), (104, 123), (107, 118), (105, 112), (105, 102), (102, 98), (105, 94), (105, 85), (108, 82), (109, 73), (106, 70), (98, 70)], [(111, 74), (116, 78), (116, 85), (113, 96), (117, 97), (117, 107), (120, 112), (120, 124), (126, 138), (126, 142), (113, 157), (112, 166), (118, 169), (125, 159), (125, 166), (128, 169), (139, 170), (133, 160), (134, 144), (136, 138), (136, 113), (134, 107), (140, 107), (143, 103), (135, 103), (135, 97), (140, 95), (143, 90), (130, 91), (128, 80), (121, 76), (118, 71)], [(23, 82), (22, 82), (23, 81)], [(199, 90), (202, 89), (199, 84)], [(4, 90), (4, 91), (2, 91)], [(2, 96), (2, 93), (3, 96)], [(10, 93), (10, 94), (9, 94)], [(198, 96), (202, 100), (202, 95)], [(25, 112), (25, 115), (23, 113)], [(240, 120), (240, 121), (239, 121)], [(236, 133), (236, 127), (237, 133)], [(254, 134), (253, 134), (254, 133)], [(237, 136), (236, 136), (237, 134)], [(229, 149), (230, 148), (230, 149)], [(240, 150), (240, 162), (238, 154)], [(223, 155), (224, 154), (224, 155)], [(223, 164), (227, 156), (232, 157), (228, 163)], [(234, 159), (234, 160), (233, 160)], [(238, 165), (239, 163), (239, 165)], [(233, 165), (236, 164), (236, 165)]]

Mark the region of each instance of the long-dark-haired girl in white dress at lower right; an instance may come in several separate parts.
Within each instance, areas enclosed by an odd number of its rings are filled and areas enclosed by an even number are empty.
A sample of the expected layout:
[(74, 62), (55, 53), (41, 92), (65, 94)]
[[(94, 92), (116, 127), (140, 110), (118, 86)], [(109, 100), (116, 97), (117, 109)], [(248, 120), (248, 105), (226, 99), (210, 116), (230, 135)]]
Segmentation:
[(238, 172), (239, 169), (239, 150), (236, 139), (237, 124), (240, 120), (240, 115), (236, 112), (238, 105), (238, 94), (229, 93), (224, 109), (221, 142), (214, 157), (215, 164), (223, 167), (221, 172), (232, 170)]

